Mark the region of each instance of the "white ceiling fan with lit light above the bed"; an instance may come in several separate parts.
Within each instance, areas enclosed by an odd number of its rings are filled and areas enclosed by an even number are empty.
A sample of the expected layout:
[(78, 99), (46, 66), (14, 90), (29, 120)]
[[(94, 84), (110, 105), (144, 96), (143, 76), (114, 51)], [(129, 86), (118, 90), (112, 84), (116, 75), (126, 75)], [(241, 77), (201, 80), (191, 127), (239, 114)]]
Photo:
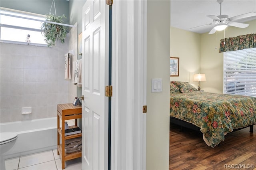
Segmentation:
[[(233, 21), (248, 18), (248, 17), (252, 17), (252, 16), (256, 16), (255, 12), (249, 12), (249, 13), (246, 13), (246, 14), (242, 14), (242, 15), (238, 15), (238, 16), (228, 18), (228, 15), (222, 15), (221, 14), (221, 4), (223, 3), (223, 1), (224, 0), (217, 0), (217, 2), (220, 4), (220, 15), (219, 16), (208, 15), (209, 18), (213, 19), (212, 23), (202, 25), (202, 26), (197, 26), (197, 27), (194, 27), (194, 28), (213, 25), (214, 27), (209, 32), (209, 34), (214, 34), (216, 31), (222, 31), (225, 28), (227, 28), (227, 26), (234, 26), (234, 27), (238, 27), (238, 28), (246, 28), (246, 27), (249, 26), (249, 24), (244, 24), (244, 23), (240, 23), (240, 22), (233, 22)], [(193, 28), (190, 28), (190, 29), (193, 29)]]

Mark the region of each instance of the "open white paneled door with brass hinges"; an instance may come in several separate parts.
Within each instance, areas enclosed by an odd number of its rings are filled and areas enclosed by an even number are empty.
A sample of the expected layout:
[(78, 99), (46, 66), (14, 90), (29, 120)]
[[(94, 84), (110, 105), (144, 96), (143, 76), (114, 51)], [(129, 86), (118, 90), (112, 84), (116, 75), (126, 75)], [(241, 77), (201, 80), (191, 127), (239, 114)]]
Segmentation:
[(87, 0), (82, 10), (82, 169), (108, 169), (108, 6)]

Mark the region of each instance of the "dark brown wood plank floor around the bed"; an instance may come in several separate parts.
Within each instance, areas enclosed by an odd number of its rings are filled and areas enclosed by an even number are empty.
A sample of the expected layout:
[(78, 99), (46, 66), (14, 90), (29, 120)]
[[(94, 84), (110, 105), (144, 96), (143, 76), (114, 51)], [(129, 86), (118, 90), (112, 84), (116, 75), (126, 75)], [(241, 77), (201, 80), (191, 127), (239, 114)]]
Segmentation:
[[(170, 170), (256, 170), (256, 125), (228, 133), (214, 148), (207, 146), (202, 132), (170, 126)], [(239, 167), (240, 166), (240, 167)]]

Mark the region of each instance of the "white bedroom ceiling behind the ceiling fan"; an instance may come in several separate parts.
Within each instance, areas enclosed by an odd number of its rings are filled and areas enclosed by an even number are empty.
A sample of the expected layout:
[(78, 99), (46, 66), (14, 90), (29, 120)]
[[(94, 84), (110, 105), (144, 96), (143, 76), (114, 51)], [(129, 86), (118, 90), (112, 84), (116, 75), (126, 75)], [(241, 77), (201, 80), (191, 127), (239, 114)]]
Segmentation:
[[(256, 12), (256, 0), (224, 0), (222, 3), (222, 15), (228, 15), (229, 18), (248, 12)], [(172, 27), (200, 34), (210, 32), (212, 26), (194, 28), (212, 23), (213, 20), (207, 15), (220, 15), (220, 4), (217, 0), (171, 0)], [(256, 16), (242, 20), (242, 23), (254, 19)]]

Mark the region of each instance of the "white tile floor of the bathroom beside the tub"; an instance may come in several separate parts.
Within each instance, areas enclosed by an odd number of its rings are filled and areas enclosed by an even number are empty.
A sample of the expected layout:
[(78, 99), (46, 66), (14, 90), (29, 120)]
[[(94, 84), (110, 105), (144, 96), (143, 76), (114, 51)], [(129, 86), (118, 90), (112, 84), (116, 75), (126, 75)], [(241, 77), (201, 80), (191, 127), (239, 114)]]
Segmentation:
[[(57, 150), (48, 150), (36, 154), (5, 160), (6, 170), (62, 170)], [(66, 161), (64, 170), (81, 170), (81, 158)]]

